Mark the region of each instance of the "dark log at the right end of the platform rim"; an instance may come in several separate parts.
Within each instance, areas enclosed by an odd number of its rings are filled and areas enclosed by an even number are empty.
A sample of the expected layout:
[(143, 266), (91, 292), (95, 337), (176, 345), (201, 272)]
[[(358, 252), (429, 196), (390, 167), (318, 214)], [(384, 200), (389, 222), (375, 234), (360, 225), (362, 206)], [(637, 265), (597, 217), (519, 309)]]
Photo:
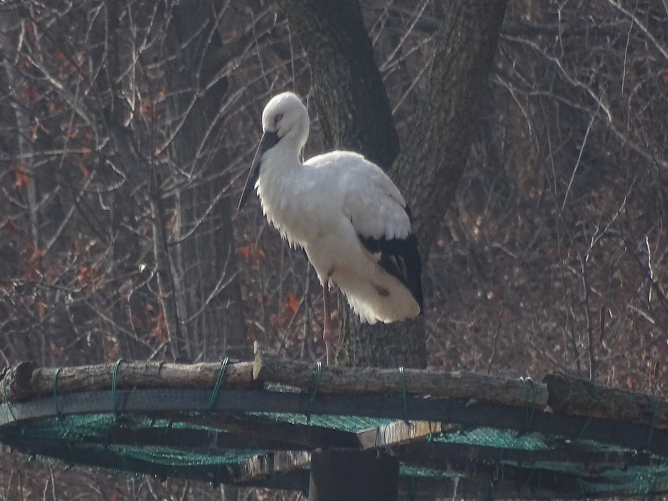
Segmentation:
[(602, 417), (656, 429), (668, 429), (668, 402), (621, 388), (606, 388), (562, 373), (543, 378), (548, 404), (558, 414)]

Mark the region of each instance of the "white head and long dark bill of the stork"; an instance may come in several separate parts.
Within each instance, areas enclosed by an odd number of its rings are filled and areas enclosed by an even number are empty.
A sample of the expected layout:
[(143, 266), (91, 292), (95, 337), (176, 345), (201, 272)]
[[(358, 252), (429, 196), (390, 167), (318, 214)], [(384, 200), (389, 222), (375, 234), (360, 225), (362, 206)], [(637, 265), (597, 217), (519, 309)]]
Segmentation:
[(292, 150), (296, 156), (306, 143), (308, 137), (308, 111), (299, 97), (294, 93), (285, 92), (271, 98), (262, 111), (262, 139), (257, 147), (246, 186), (241, 192), (239, 207), (244, 206), (250, 191), (253, 190), (257, 178), (260, 177), (260, 166), (264, 153), (275, 146)]

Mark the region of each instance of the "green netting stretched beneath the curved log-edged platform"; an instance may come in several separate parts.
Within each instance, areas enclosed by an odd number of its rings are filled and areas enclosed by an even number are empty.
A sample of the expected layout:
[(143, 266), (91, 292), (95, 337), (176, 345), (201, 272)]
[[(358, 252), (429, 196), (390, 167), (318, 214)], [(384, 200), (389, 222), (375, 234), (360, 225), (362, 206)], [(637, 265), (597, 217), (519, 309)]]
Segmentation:
[[(179, 405), (188, 401), (186, 393), (168, 395)], [(208, 393), (193, 395), (206, 408)], [(276, 404), (275, 395), (269, 397), (274, 399), (272, 405), (285, 408), (284, 404)], [(79, 404), (83, 400), (77, 398), (73, 397), (72, 402)], [(110, 401), (104, 394), (96, 398), (96, 405)], [(310, 409), (308, 400), (294, 395), (291, 398), (297, 408)], [(397, 419), (328, 413), (307, 416), (303, 412), (242, 412), (238, 408), (218, 413), (169, 411), (169, 419), (157, 411), (150, 415), (91, 412), (25, 417), (48, 414), (52, 404), (49, 399), (35, 401), (39, 411), (32, 414), (30, 409), (20, 407), (23, 404), (12, 404), (13, 409), (7, 404), (0, 406), (7, 423), (0, 426), (0, 441), (35, 456), (58, 458), (68, 464), (103, 466), (133, 475), (150, 473), (294, 489), (308, 486), (308, 481), (304, 481), (305, 475), (308, 479), (308, 451), (316, 447), (308, 445), (308, 440), (314, 436), (319, 440), (344, 438), (348, 441), (343, 447), (351, 447), (358, 434), (369, 430), (379, 431), (383, 440), (391, 438), (393, 429), (401, 429), (391, 425), (402, 422), (399, 415)], [(158, 404), (160, 401), (155, 406)], [(23, 412), (24, 417), (10, 419), (8, 415), (14, 412)], [(485, 485), (501, 497), (512, 494), (518, 498), (543, 491), (565, 497), (668, 491), (668, 454), (573, 438), (582, 435), (582, 427), (571, 437), (520, 431), (524, 429), (523, 425), (516, 430), (462, 426), (405, 440), (397, 447), (379, 440), (374, 447), (400, 459), (400, 482), (408, 486), (408, 491), (456, 490), (466, 486), (466, 482), (478, 482), (478, 487)], [(653, 430), (641, 437), (647, 437), (649, 443), (649, 438), (655, 440), (662, 434)], [(337, 443), (330, 446), (342, 447)], [(272, 470), (275, 455), (281, 450), (294, 453), (290, 457), (297, 461), (292, 468)], [(307, 455), (299, 456), (300, 451)], [(461, 497), (467, 496), (472, 497), (461, 493)]]

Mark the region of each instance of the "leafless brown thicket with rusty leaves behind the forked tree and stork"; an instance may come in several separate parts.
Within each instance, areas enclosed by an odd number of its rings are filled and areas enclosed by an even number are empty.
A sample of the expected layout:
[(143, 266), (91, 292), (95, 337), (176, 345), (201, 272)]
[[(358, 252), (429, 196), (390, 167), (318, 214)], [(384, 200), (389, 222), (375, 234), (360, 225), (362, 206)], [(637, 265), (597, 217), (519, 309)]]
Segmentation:
[[(326, 149), (289, 3), (0, 3), (0, 365), (323, 356), (315, 273), (235, 209), (271, 95), (301, 95), (305, 157)], [(360, 2), (402, 147), (437, 3)], [(668, 397), (668, 3), (510, 0), (488, 71), (429, 234), (427, 365)], [(0, 455), (2, 501), (225, 497)]]

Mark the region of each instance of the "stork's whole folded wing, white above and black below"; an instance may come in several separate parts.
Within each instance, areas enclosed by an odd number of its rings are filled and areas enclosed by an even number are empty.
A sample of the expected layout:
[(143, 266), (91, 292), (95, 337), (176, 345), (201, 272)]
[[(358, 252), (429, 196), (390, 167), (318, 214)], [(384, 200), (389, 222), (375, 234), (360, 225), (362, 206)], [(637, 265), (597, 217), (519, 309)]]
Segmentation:
[(344, 175), (344, 212), (362, 245), (411, 291), (422, 310), (422, 264), (406, 201), (378, 166), (365, 160), (356, 167)]

